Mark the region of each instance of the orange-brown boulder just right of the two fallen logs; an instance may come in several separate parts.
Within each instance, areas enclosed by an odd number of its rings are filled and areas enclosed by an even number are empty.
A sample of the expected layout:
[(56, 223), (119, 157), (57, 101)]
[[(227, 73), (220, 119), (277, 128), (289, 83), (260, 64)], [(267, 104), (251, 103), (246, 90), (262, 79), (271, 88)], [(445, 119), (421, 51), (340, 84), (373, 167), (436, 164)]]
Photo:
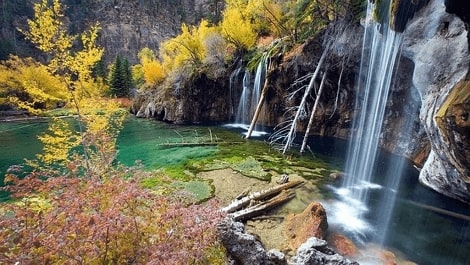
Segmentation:
[(288, 245), (297, 249), (310, 237), (324, 238), (327, 228), (325, 208), (320, 203), (313, 202), (302, 213), (287, 217), (284, 233)]

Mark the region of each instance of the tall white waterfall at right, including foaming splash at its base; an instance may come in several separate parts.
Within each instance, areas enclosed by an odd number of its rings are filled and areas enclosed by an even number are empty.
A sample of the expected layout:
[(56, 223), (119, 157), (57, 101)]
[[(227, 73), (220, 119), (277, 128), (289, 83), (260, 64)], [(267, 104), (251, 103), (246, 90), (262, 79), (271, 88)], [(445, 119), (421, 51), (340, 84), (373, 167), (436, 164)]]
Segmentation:
[[(388, 10), (382, 10), (381, 14), (390, 14), (391, 1), (384, 2), (387, 4), (381, 8), (385, 6)], [(362, 241), (369, 232), (374, 232), (375, 237), (379, 237), (375, 238), (375, 241), (381, 243), (386, 228), (379, 228), (366, 221), (365, 215), (370, 215), (366, 202), (371, 190), (387, 189), (391, 191), (388, 194), (393, 195), (393, 191), (396, 190), (399, 183), (400, 172), (398, 169), (396, 169), (397, 172), (393, 172), (391, 180), (383, 181), (383, 183), (388, 183), (386, 185), (391, 185), (386, 188), (372, 183), (372, 174), (377, 159), (380, 133), (402, 34), (390, 29), (388, 15), (383, 16), (382, 23), (374, 21), (373, 9), (374, 5), (369, 2), (355, 106), (355, 109), (360, 109), (360, 113), (353, 123), (355, 132), (351, 139), (346, 161), (347, 177), (343, 186), (336, 190), (340, 202), (333, 206), (332, 211), (336, 216), (332, 218), (332, 221), (341, 222), (339, 226), (351, 233), (357, 241)], [(382, 173), (386, 177), (386, 172)], [(394, 203), (393, 200), (393, 196), (384, 196), (384, 205), (381, 207), (385, 210), (393, 208), (393, 205), (390, 205)], [(387, 224), (390, 219), (390, 210), (388, 213), (381, 213), (381, 215), (380, 222)]]

